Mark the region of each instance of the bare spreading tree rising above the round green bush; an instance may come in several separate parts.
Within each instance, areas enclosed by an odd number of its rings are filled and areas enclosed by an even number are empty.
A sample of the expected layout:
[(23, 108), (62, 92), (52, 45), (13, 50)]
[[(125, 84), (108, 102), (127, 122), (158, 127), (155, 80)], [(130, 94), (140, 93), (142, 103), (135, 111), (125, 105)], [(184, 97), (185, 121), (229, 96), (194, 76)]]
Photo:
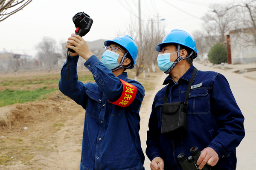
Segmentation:
[(207, 32), (207, 43), (213, 46), (216, 42), (224, 42), (224, 33), (238, 27), (238, 15), (222, 4), (213, 4), (210, 6), (210, 12), (202, 18), (204, 20), (204, 28)]

